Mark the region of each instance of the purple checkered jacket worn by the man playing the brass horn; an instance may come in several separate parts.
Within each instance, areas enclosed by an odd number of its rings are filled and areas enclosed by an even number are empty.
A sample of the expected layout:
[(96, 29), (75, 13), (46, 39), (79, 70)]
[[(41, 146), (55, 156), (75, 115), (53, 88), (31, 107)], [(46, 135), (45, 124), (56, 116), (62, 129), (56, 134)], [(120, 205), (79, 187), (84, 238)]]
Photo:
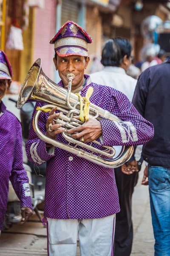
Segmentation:
[[(90, 77), (81, 90), (85, 96), (88, 87), (94, 88), (90, 101), (118, 116), (125, 122), (116, 125), (102, 119), (103, 145), (142, 145), (153, 137), (153, 125), (145, 120), (127, 97), (111, 88), (91, 82)], [(63, 87), (62, 81), (59, 86)], [(38, 102), (35, 106), (42, 106)], [(33, 115), (34, 115), (33, 113)], [(39, 119), (45, 134), (48, 113)], [(67, 143), (61, 134), (57, 140)], [(102, 218), (120, 211), (114, 169), (98, 166), (60, 148), (47, 152), (31, 125), (26, 143), (28, 159), (35, 165), (47, 162), (44, 216), (58, 219)]]

